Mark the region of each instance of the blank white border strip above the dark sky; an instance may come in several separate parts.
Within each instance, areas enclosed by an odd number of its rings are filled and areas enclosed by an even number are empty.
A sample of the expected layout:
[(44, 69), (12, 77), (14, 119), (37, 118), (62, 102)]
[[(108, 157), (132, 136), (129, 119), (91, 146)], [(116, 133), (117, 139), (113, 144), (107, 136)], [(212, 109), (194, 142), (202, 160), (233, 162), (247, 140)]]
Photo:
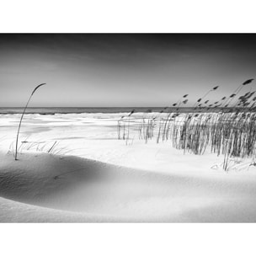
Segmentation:
[(253, 33), (255, 1), (6, 0), (0, 32)]

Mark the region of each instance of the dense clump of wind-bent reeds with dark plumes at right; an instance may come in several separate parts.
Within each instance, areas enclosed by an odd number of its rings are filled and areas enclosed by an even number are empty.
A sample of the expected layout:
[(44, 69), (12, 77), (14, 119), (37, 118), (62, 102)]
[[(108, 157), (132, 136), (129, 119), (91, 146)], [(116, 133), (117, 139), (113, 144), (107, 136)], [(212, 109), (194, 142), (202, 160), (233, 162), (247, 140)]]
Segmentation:
[[(194, 154), (204, 154), (208, 148), (218, 156), (224, 156), (223, 168), (227, 170), (231, 157), (256, 157), (256, 97), (255, 91), (239, 93), (253, 79), (238, 86), (229, 96), (223, 96), (212, 104), (205, 99), (218, 86), (200, 97), (189, 113), (183, 107), (188, 103), (184, 94), (176, 103), (165, 107), (158, 115), (144, 115), (138, 125), (139, 138), (171, 141), (174, 148)], [(232, 104), (234, 102), (234, 104)], [(131, 115), (128, 115), (129, 117)], [(124, 121), (124, 120), (122, 120)], [(122, 138), (129, 137), (130, 118), (123, 125), (119, 123)], [(126, 127), (126, 128), (125, 128)], [(123, 129), (123, 130), (122, 130)], [(119, 138), (121, 138), (119, 134)]]

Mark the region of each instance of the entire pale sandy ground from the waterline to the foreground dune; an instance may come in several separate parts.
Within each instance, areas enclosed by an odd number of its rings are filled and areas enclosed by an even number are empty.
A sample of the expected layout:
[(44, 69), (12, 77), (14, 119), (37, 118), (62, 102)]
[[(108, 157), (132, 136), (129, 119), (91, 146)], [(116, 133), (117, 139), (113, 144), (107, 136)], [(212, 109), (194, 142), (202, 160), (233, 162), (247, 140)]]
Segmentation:
[(126, 145), (117, 140), (120, 115), (26, 115), (19, 141), (29, 143), (19, 161), (12, 149), (19, 115), (0, 115), (0, 221), (256, 221), (249, 159), (224, 172), (223, 157), (146, 144), (132, 123)]

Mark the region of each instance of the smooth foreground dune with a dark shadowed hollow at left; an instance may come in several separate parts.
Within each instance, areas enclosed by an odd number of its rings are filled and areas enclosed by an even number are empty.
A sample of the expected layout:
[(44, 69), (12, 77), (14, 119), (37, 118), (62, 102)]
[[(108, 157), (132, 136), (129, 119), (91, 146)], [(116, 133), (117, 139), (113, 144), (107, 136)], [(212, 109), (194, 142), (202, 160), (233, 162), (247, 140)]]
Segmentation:
[(1, 222), (256, 221), (254, 173), (153, 173), (46, 153), (0, 157)]

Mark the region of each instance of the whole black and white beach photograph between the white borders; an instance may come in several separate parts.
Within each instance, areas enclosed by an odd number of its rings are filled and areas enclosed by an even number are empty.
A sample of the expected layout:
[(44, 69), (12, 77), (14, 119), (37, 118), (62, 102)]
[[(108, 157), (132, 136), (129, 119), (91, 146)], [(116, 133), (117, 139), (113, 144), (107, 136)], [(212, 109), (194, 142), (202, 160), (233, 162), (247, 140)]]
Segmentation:
[(0, 35), (1, 222), (255, 222), (256, 35)]

